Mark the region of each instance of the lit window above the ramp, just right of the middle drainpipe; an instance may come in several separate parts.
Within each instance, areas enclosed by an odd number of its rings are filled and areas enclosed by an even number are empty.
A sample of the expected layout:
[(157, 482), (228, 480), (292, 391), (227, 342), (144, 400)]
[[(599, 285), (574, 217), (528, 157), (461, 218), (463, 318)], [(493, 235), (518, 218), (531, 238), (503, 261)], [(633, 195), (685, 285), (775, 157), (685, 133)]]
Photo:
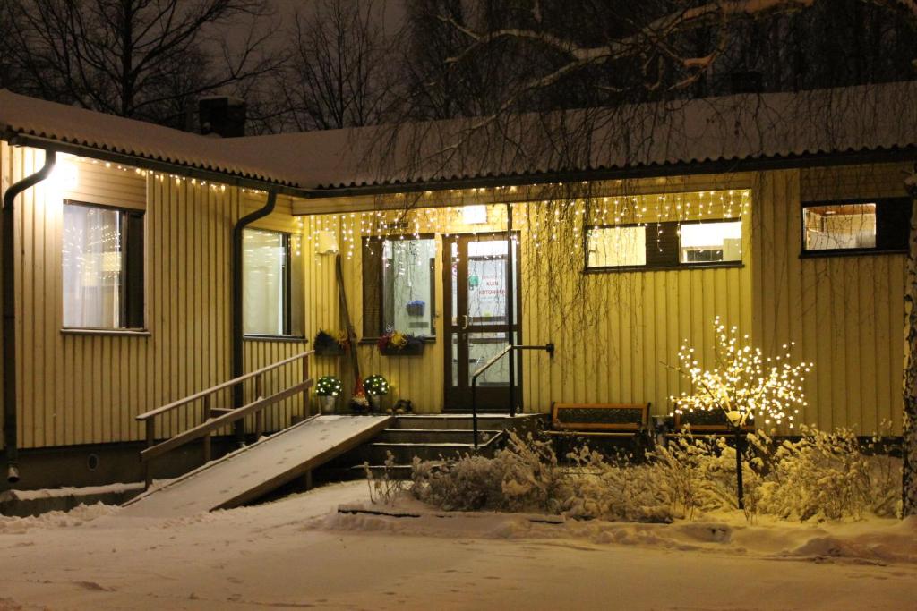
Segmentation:
[(302, 259), (298, 235), (260, 229), (243, 232), (243, 333), (303, 335)]

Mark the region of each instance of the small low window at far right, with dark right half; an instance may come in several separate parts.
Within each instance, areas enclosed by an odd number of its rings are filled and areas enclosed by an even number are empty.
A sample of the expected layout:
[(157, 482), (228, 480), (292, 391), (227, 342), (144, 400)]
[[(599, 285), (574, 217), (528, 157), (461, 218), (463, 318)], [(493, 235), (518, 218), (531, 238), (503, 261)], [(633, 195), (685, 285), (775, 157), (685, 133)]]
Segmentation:
[(802, 253), (903, 252), (911, 202), (906, 198), (802, 204)]

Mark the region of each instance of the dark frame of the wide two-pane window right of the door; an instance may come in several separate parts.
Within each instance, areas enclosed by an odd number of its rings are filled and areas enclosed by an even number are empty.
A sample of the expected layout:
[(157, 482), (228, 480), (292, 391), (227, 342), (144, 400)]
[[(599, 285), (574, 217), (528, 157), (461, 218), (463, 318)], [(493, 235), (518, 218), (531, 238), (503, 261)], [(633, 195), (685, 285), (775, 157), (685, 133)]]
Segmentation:
[[(686, 224), (712, 224), (712, 223), (742, 223), (742, 239), (745, 240), (745, 220), (741, 216), (727, 216), (724, 218), (698, 219), (691, 221), (652, 221), (646, 223), (619, 223), (619, 224), (595, 224), (588, 225), (586, 232), (583, 234), (583, 270), (584, 274), (613, 274), (619, 272), (651, 272), (651, 271), (680, 271), (689, 269), (711, 269), (722, 267), (745, 267), (745, 251), (738, 261), (700, 261), (696, 263), (683, 263), (681, 261), (681, 240), (678, 234), (680, 225)], [(664, 251), (663, 256), (654, 254), (650, 256), (652, 250), (656, 249), (658, 241), (651, 240), (650, 231), (662, 225), (671, 228), (674, 232), (674, 249)], [(602, 266), (590, 267), (589, 265), (589, 232), (593, 229), (606, 229), (613, 227), (646, 227), (646, 264), (642, 266)], [(657, 234), (658, 235), (658, 234)]]

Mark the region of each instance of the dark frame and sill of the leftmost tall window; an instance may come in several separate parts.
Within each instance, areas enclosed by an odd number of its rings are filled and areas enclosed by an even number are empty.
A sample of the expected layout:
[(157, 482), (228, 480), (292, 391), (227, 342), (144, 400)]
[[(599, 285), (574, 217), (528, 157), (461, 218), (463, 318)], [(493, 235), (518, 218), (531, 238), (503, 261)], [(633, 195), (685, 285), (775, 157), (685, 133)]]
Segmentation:
[[(120, 309), (117, 327), (68, 326), (64, 324), (67, 307), (63, 292), (63, 257), (61, 256), (61, 333), (64, 334), (106, 334), (106, 335), (149, 335), (147, 328), (147, 211), (118, 206), (116, 204), (84, 202), (64, 198), (63, 206), (80, 206), (118, 213), (122, 226), (121, 273), (124, 281), (119, 287)], [(61, 227), (62, 227), (61, 211)], [(135, 230), (140, 228), (139, 240)]]

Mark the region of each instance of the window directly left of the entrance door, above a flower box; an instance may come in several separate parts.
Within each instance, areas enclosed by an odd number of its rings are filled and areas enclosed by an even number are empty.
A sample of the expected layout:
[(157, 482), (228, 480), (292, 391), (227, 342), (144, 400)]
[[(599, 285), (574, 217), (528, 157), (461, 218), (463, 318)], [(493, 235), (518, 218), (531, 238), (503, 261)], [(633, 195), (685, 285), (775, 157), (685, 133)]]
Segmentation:
[(435, 335), (436, 240), (364, 238), (363, 336)]

